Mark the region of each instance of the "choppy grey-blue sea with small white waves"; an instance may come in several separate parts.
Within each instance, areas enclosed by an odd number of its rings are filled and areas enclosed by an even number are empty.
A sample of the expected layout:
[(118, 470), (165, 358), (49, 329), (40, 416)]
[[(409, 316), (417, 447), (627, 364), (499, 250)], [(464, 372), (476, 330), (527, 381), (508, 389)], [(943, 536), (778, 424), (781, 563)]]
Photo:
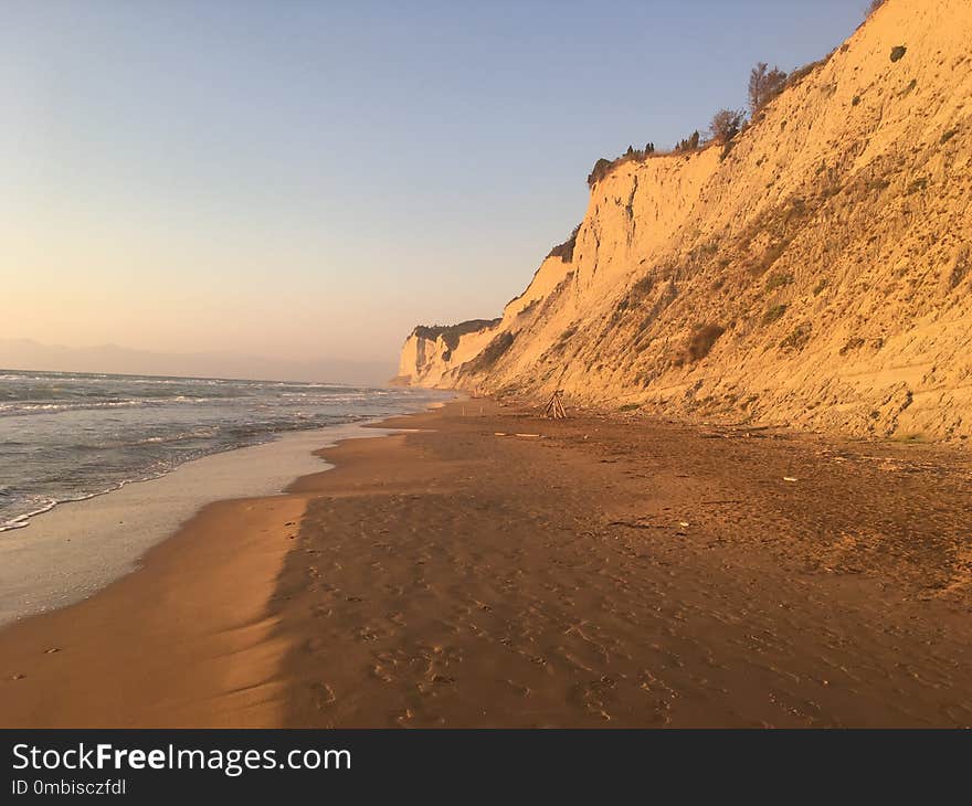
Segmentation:
[(0, 532), (210, 454), (421, 411), (445, 396), (335, 383), (0, 370)]

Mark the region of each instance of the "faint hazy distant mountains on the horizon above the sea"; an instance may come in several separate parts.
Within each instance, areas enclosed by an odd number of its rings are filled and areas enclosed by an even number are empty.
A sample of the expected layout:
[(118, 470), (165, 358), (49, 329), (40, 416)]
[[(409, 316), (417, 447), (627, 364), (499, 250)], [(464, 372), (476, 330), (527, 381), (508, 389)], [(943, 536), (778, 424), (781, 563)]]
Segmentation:
[(30, 339), (0, 338), (0, 368), (57, 372), (251, 378), (282, 381), (329, 381), (381, 386), (394, 364), (384, 361), (287, 361), (229, 352), (163, 353), (130, 350), (117, 344), (70, 348)]

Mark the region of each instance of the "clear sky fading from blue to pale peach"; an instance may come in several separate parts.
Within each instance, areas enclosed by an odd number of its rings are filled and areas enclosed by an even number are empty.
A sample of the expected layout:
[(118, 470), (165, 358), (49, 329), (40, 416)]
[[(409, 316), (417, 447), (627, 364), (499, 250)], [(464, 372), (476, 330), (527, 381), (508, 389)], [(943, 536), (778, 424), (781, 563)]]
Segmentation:
[(864, 6), (0, 0), (0, 338), (394, 363)]

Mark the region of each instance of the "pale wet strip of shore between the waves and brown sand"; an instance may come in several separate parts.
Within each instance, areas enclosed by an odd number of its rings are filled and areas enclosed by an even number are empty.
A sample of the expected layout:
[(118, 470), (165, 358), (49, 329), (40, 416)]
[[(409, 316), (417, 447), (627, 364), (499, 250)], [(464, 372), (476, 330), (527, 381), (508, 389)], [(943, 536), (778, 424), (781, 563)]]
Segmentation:
[(282, 492), (295, 478), (327, 469), (315, 453), (323, 443), (377, 422), (288, 432), (220, 450), (155, 478), (63, 501), (0, 533), (0, 627), (84, 601), (131, 573), (146, 552), (209, 503)]

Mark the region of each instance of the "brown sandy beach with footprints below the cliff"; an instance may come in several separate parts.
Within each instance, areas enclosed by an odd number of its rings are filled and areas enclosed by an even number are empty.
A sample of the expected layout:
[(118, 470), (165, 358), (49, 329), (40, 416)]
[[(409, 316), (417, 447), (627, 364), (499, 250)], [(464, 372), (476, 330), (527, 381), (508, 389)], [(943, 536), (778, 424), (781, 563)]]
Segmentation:
[(972, 724), (966, 454), (480, 400), (385, 425), (415, 431), (0, 632), (3, 727)]

